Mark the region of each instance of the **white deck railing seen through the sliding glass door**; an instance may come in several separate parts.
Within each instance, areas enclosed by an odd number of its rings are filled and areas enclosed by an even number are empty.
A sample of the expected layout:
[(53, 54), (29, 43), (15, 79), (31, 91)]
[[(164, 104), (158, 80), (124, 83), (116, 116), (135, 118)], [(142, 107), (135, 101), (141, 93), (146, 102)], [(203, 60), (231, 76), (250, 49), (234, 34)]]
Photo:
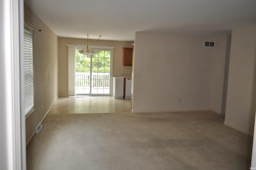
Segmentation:
[[(90, 72), (76, 72), (76, 87), (90, 87)], [(92, 87), (109, 87), (110, 73), (92, 73)]]

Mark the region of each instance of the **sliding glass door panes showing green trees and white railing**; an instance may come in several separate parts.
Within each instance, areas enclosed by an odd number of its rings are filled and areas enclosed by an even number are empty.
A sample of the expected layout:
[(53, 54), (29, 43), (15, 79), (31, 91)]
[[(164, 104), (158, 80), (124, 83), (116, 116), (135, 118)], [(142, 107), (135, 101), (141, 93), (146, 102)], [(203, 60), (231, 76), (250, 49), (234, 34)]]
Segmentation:
[(76, 49), (75, 94), (110, 96), (112, 50)]

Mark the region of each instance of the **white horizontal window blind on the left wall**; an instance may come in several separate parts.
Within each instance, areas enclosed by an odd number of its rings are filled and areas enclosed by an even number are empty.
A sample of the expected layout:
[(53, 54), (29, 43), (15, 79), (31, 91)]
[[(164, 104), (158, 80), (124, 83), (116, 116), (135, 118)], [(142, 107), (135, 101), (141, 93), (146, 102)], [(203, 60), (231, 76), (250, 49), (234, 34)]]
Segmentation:
[(34, 67), (32, 31), (24, 28), (25, 114), (34, 108)]

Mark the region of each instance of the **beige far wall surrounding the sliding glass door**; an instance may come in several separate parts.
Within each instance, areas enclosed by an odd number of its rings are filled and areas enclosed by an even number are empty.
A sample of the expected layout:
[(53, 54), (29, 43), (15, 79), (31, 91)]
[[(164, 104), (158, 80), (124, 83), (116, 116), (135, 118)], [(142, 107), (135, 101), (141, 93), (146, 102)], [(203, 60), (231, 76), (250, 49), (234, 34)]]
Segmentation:
[[(100, 40), (97, 44), (89, 43), (92, 46), (114, 46), (113, 76), (121, 76), (122, 73), (132, 73), (131, 66), (122, 66), (123, 47), (132, 47), (130, 41), (107, 41)], [(58, 73), (59, 73), (59, 96), (68, 96), (68, 47), (67, 44), (86, 45), (86, 39), (58, 38)]]

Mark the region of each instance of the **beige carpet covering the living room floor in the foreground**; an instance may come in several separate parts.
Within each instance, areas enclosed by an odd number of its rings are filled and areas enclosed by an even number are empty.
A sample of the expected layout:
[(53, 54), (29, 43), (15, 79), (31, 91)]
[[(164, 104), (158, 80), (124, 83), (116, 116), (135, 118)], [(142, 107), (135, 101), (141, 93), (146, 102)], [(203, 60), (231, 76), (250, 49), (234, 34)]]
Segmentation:
[(49, 114), (28, 170), (248, 170), (252, 138), (213, 112)]

